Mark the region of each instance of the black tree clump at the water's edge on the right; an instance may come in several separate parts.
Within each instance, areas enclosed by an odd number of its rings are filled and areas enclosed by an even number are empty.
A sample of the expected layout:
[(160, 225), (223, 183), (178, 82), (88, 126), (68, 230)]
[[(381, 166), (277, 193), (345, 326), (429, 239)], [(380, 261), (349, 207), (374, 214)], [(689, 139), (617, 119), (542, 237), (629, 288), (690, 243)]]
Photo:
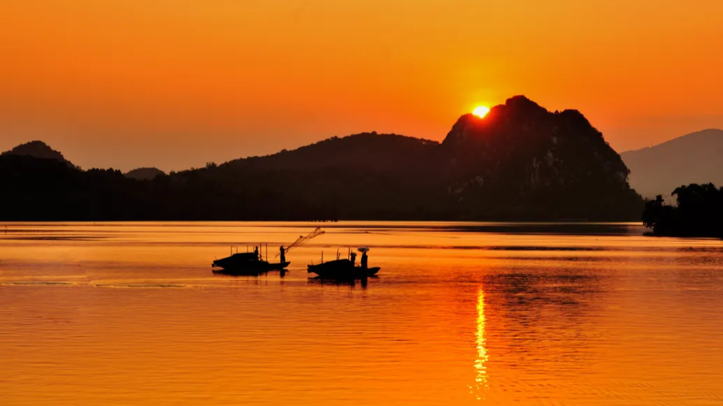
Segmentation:
[(662, 196), (645, 205), (643, 224), (654, 236), (723, 238), (723, 187), (693, 183), (672, 195), (677, 206), (665, 204)]

